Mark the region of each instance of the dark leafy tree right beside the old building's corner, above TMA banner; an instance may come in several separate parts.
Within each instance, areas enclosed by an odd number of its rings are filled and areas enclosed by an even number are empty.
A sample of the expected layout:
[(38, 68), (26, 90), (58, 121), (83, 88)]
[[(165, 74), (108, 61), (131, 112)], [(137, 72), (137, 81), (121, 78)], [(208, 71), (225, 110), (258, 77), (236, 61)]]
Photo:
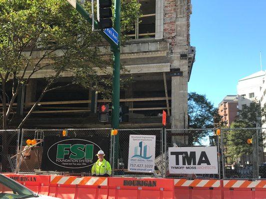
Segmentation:
[[(221, 116), (218, 113), (218, 108), (214, 107), (205, 95), (200, 95), (195, 92), (188, 95), (188, 115), (189, 128), (215, 128), (222, 125)], [(193, 142), (200, 143), (202, 139), (208, 136), (211, 132), (208, 130), (197, 130), (193, 133)]]

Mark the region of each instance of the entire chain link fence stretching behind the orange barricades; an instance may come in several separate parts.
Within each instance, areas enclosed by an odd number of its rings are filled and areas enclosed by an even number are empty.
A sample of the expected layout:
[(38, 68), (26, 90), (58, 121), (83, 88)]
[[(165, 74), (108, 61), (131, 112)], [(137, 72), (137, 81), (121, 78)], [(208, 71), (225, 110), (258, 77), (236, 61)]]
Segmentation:
[[(105, 159), (110, 162), (114, 176), (266, 179), (266, 156), (264, 155), (266, 146), (263, 145), (266, 142), (264, 136), (266, 128), (224, 128), (218, 135), (217, 129), (119, 129), (119, 133), (112, 136), (111, 128), (22, 129), (20, 132), (19, 130), (0, 130), (0, 172), (42, 173), (43, 140), (47, 137), (62, 137), (64, 131), (69, 138), (105, 140)], [(156, 137), (154, 172), (129, 171), (130, 135)], [(27, 140), (36, 140), (37, 145), (29, 147), (30, 145), (26, 143)], [(170, 147), (181, 147), (180, 149), (182, 149), (182, 147), (205, 146), (215, 147), (218, 173), (170, 174), (168, 157)], [(183, 159), (191, 161), (179, 157), (180, 162)], [(56, 171), (49, 172), (56, 173)], [(72, 174), (77, 173), (72, 171)], [(82, 174), (90, 175), (90, 168)]]

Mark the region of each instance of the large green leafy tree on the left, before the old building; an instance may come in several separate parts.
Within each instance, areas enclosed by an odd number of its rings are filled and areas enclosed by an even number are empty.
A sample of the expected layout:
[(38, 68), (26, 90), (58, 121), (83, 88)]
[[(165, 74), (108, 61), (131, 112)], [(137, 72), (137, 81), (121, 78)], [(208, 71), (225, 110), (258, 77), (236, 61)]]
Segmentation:
[[(140, 4), (122, 0), (121, 34), (131, 30), (139, 17)], [(90, 2), (83, 6), (89, 10)], [(131, 24), (131, 25), (129, 25)], [(2, 95), (2, 128), (12, 120), (13, 104), (21, 88), (41, 70), (52, 70), (45, 77), (42, 93), (22, 119), (21, 128), (43, 96), (52, 90), (79, 84), (104, 93), (111, 88), (111, 59), (102, 59), (96, 46), (108, 45), (91, 25), (66, 0), (0, 0), (0, 83)], [(36, 56), (36, 52), (39, 56)], [(104, 78), (96, 73), (105, 74)], [(56, 87), (63, 72), (73, 74), (69, 84)], [(122, 68), (122, 72), (125, 69)], [(123, 80), (123, 78), (122, 78)], [(7, 84), (12, 94), (7, 98)], [(125, 82), (123, 80), (122, 82)], [(123, 85), (122, 85), (123, 86)], [(8, 103), (8, 104), (7, 104)]]

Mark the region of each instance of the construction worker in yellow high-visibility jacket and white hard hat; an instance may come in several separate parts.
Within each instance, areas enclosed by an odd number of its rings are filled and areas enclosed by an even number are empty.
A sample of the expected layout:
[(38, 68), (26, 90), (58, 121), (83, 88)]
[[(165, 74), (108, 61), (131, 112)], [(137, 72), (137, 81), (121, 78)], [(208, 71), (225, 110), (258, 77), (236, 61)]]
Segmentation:
[(109, 177), (112, 174), (112, 169), (110, 163), (103, 158), (105, 156), (104, 152), (99, 150), (96, 156), (98, 156), (98, 160), (91, 168), (92, 176)]

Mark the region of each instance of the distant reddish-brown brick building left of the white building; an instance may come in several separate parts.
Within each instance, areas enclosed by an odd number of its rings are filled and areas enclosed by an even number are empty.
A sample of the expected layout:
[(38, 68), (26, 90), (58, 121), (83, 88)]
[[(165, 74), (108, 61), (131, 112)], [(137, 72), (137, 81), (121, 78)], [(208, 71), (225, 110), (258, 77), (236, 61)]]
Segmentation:
[(226, 96), (219, 103), (219, 114), (222, 116), (222, 121), (230, 127), (231, 123), (236, 119), (238, 112), (238, 97), (237, 95)]

